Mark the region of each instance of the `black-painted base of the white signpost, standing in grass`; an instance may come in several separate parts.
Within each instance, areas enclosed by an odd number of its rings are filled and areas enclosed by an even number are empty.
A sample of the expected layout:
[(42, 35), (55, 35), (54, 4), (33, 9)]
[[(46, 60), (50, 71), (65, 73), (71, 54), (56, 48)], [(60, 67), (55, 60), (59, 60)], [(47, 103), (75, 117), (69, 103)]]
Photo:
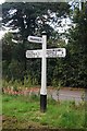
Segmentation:
[(47, 95), (40, 94), (40, 111), (45, 112), (47, 110)]

